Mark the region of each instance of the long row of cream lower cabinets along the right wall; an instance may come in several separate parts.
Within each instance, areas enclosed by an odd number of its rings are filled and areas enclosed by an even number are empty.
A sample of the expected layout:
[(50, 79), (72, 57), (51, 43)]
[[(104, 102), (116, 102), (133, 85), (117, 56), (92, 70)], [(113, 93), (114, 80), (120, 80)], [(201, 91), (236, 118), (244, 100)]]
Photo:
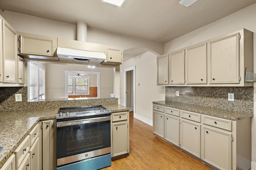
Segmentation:
[[(161, 115), (164, 121), (160, 121)], [(164, 137), (156, 133), (163, 124)], [(213, 168), (251, 168), (250, 117), (229, 120), (153, 104), (153, 129), (156, 136)]]

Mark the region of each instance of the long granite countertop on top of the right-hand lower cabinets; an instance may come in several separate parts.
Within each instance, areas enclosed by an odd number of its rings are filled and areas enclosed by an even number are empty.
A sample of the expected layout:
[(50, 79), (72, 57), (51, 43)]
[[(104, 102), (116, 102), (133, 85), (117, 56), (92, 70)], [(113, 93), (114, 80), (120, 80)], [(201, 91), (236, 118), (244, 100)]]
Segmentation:
[(153, 102), (153, 104), (158, 104), (167, 107), (173, 107), (176, 109), (182, 109), (186, 111), (192, 111), (196, 113), (201, 113), (204, 115), (211, 115), (216, 117), (221, 117), (230, 120), (240, 120), (248, 117), (253, 117), (253, 113), (244, 113), (244, 112), (237, 112), (237, 111), (230, 111), (226, 109), (216, 109), (213, 107), (203, 107), (198, 105), (191, 105), (191, 104), (183, 104), (178, 102), (169, 102), (169, 101), (157, 101)]

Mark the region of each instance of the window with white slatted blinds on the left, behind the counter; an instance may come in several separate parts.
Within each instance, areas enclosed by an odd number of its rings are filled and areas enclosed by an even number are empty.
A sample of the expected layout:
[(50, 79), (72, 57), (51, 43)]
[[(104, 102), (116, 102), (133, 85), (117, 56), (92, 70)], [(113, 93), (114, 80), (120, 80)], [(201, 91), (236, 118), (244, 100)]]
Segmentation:
[(40, 63), (28, 62), (29, 82), (28, 98), (29, 100), (45, 99), (45, 67)]

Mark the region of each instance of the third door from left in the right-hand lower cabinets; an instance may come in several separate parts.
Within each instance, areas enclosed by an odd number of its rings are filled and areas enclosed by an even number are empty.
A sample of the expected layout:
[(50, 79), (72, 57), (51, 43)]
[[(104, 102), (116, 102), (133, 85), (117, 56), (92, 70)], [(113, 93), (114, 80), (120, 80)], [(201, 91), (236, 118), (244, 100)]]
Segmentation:
[(180, 147), (200, 158), (201, 125), (181, 120)]

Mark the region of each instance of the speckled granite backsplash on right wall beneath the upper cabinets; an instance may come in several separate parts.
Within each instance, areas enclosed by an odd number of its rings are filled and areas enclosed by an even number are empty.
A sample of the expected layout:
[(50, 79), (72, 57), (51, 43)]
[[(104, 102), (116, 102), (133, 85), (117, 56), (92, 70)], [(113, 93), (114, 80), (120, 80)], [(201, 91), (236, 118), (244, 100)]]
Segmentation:
[[(176, 96), (179, 91), (180, 96)], [(228, 101), (228, 93), (234, 93), (234, 101)], [(253, 113), (253, 87), (166, 87), (165, 100)]]

